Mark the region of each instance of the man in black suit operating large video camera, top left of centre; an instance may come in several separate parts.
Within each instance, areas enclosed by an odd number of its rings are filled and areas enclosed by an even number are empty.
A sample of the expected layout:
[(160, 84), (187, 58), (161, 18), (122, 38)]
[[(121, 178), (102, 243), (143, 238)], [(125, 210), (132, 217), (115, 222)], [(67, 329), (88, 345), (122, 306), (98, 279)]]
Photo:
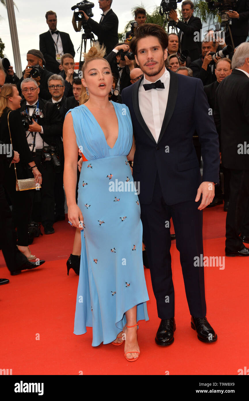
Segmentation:
[(112, 0), (98, 0), (98, 3), (100, 10), (103, 11), (99, 24), (89, 18), (84, 11), (80, 12), (84, 15), (90, 30), (98, 36), (100, 46), (105, 46), (108, 55), (118, 42), (118, 17), (110, 8)]

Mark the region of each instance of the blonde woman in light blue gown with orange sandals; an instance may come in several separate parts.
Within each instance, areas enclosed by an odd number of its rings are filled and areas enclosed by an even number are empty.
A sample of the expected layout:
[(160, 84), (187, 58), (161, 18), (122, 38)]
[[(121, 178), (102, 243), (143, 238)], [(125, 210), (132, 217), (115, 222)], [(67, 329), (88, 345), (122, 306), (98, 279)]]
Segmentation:
[[(68, 221), (83, 228), (74, 334), (92, 327), (92, 346), (125, 339), (125, 357), (133, 362), (140, 354), (137, 322), (149, 320), (140, 205), (127, 161), (135, 143), (129, 109), (108, 101), (112, 73), (103, 55), (91, 47), (85, 56), (89, 100), (68, 112), (63, 127)], [(76, 205), (78, 149), (87, 161)]]

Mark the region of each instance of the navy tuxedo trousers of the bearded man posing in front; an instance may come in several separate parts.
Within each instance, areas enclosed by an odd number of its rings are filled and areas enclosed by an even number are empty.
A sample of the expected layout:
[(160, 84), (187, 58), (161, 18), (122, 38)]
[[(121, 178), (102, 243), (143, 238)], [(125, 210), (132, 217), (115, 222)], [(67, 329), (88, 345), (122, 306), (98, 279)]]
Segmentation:
[[(176, 246), (180, 252), (190, 314), (195, 317), (206, 316), (204, 269), (194, 266), (194, 257), (203, 255), (202, 211), (197, 209), (200, 203), (200, 201), (199, 203), (189, 201), (166, 205), (157, 174), (151, 204), (141, 204), (143, 237), (149, 259), (153, 292), (157, 301), (157, 312), (161, 319), (175, 316), (170, 227), (165, 227), (171, 217)], [(166, 302), (166, 296), (169, 296), (169, 302)]]

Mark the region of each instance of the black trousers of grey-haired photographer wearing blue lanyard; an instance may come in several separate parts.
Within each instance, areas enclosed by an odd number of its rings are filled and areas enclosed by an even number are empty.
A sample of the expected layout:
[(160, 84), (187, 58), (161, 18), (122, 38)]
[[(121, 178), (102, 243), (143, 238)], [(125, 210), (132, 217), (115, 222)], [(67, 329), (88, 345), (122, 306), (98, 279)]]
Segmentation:
[(42, 152), (35, 152), (34, 162), (42, 174), (42, 188), (34, 190), (32, 220), (41, 221), (43, 227), (54, 224), (54, 186), (56, 172), (51, 161), (42, 160)]

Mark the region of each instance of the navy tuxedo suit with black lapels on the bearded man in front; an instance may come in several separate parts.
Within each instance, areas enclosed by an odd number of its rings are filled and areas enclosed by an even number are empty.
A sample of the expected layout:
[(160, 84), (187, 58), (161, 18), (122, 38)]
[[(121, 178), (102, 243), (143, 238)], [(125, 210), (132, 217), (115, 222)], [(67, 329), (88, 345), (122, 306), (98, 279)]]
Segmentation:
[[(175, 314), (170, 256), (171, 217), (189, 310), (193, 316), (204, 317), (204, 271), (202, 267), (193, 265), (194, 257), (203, 255), (202, 212), (197, 210), (200, 201), (195, 202), (201, 173), (193, 134), (196, 129), (202, 146), (203, 181), (217, 182), (219, 178), (219, 141), (213, 117), (208, 115), (201, 81), (171, 71), (169, 74), (169, 96), (158, 142), (145, 124), (139, 108), (139, 86), (143, 78), (122, 91), (122, 101), (129, 107), (136, 139), (133, 178), (140, 182), (143, 236), (159, 317), (169, 319)], [(167, 153), (166, 146), (169, 146)], [(166, 296), (169, 296), (169, 303), (165, 302)]]

